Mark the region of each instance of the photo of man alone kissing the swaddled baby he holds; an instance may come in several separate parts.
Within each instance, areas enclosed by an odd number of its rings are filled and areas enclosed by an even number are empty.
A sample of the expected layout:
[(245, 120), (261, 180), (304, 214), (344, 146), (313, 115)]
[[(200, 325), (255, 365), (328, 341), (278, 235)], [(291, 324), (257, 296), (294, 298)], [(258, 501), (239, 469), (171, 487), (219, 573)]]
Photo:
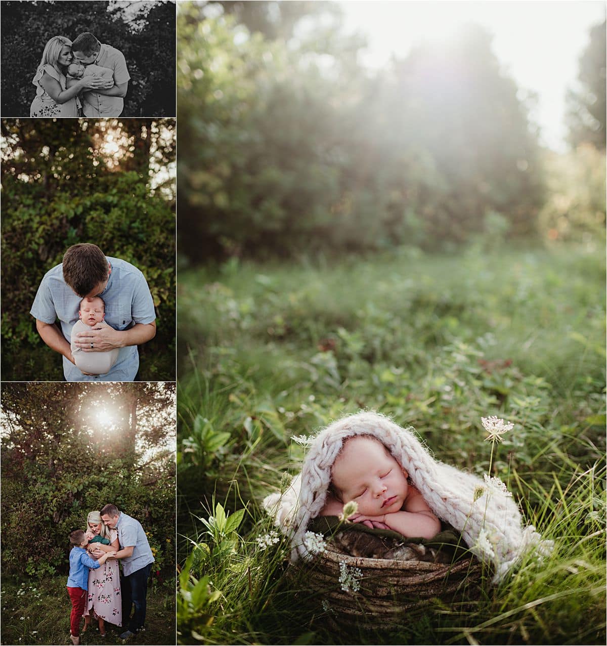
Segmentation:
[(1, 126), (3, 380), (174, 380), (175, 120)]

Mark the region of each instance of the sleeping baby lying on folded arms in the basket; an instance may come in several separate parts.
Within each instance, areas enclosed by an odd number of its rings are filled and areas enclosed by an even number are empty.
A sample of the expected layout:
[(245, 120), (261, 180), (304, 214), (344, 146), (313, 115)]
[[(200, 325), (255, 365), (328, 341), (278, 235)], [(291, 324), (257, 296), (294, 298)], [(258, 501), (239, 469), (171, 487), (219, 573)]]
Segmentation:
[(331, 469), (331, 486), (320, 516), (339, 516), (351, 500), (349, 517), (367, 527), (391, 529), (407, 538), (432, 538), (440, 521), (386, 446), (370, 435), (346, 439)]

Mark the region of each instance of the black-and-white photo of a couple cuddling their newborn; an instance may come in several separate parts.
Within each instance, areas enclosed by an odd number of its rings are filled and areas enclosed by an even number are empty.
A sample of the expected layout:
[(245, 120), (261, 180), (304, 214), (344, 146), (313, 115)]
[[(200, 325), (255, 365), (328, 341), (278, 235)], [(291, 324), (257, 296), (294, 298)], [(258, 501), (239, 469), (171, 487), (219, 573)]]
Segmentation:
[(175, 2), (6, 1), (3, 117), (174, 117)]

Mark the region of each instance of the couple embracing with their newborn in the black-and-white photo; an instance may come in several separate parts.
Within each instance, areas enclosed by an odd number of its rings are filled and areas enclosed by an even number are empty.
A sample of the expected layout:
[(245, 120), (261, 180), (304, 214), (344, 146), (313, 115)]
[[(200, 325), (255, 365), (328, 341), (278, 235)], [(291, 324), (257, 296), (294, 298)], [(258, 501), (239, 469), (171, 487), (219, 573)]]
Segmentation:
[(122, 52), (88, 32), (74, 42), (53, 36), (46, 43), (32, 83), (31, 117), (118, 117), (129, 89)]

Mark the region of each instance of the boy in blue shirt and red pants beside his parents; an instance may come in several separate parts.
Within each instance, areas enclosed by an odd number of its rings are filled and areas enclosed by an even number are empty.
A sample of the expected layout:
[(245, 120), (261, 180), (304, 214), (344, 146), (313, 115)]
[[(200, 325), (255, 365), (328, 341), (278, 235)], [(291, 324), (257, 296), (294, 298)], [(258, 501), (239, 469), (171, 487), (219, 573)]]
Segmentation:
[(80, 643), (80, 618), (87, 603), (88, 568), (96, 570), (108, 558), (116, 556), (116, 552), (105, 552), (96, 561), (87, 554), (88, 539), (81, 529), (70, 534), (70, 543), (74, 546), (70, 551), (70, 576), (67, 579), (67, 593), (72, 601), (70, 614), (70, 639), (73, 644)]

